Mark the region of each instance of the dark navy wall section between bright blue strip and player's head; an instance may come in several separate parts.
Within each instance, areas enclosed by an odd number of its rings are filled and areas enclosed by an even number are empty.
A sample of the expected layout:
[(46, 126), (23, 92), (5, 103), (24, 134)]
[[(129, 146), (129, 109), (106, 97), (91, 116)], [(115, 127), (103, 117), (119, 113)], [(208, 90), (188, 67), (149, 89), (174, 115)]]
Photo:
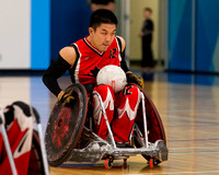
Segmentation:
[(51, 59), (58, 51), (89, 34), (91, 10), (85, 0), (51, 1)]

